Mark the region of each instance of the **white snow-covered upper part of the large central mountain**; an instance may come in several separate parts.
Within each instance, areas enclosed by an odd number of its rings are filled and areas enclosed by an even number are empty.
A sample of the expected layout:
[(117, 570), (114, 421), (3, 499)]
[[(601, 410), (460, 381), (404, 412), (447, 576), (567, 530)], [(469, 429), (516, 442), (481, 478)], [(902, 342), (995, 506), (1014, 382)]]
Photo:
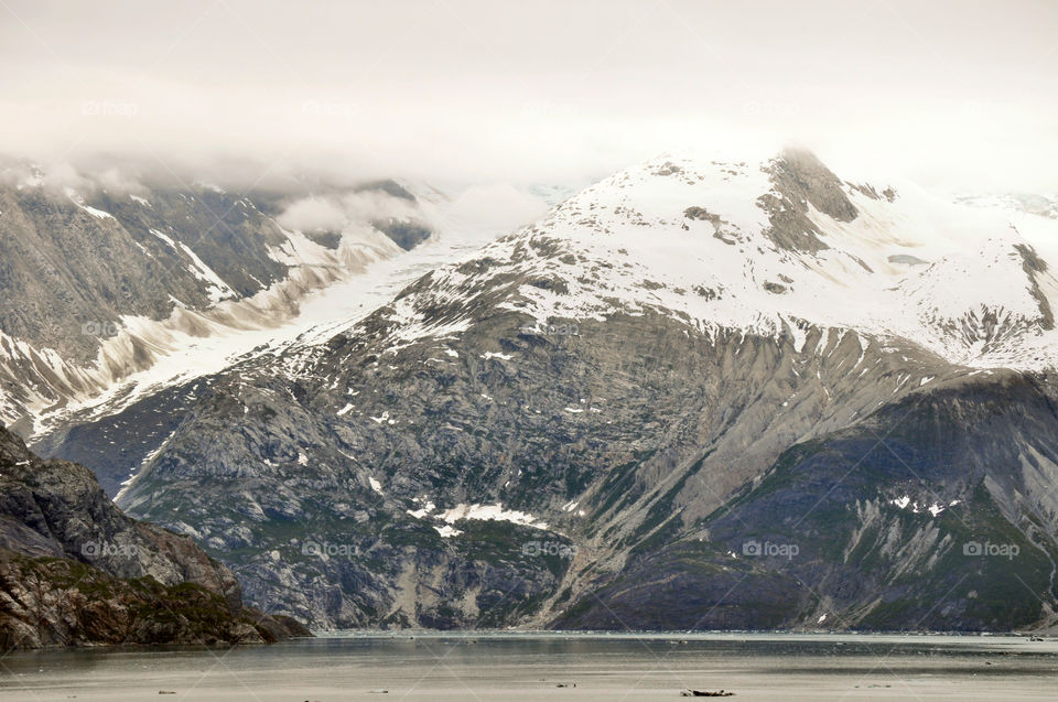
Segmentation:
[[(752, 165), (661, 158), (486, 249), (497, 264), (474, 278), (560, 278), (561, 293), (527, 284), (509, 305), (541, 324), (651, 307), (704, 331), (789, 333), (801, 344), (807, 326), (855, 330), (954, 364), (1038, 369), (1058, 360), (1058, 279), (1046, 264), (1058, 228), (1040, 225), (1022, 231), (910, 184), (878, 193), (842, 183), (803, 153)], [(527, 241), (573, 258), (527, 256)], [(468, 279), (443, 271), (430, 294)]]

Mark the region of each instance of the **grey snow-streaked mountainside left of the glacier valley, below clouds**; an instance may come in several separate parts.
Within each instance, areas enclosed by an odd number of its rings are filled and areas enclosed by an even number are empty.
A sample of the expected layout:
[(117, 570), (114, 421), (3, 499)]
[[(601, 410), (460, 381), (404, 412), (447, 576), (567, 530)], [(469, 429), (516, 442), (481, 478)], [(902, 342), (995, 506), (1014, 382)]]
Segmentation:
[(276, 326), (310, 292), (430, 235), (396, 183), (360, 196), (393, 216), (302, 233), (278, 222), (291, 194), (0, 163), (0, 421), (29, 435), (42, 412), (198, 338)]

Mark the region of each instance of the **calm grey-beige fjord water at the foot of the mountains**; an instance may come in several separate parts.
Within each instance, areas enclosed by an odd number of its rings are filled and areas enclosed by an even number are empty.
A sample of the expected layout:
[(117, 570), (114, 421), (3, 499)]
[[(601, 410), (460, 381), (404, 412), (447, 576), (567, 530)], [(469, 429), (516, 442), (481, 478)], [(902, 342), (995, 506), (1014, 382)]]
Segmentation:
[[(573, 685), (576, 685), (575, 688)], [(559, 687), (566, 685), (566, 687)], [(0, 700), (1052, 700), (1058, 641), (845, 635), (347, 634), (9, 655)], [(387, 698), (380, 698), (381, 691)], [(159, 698), (159, 692), (173, 692)]]

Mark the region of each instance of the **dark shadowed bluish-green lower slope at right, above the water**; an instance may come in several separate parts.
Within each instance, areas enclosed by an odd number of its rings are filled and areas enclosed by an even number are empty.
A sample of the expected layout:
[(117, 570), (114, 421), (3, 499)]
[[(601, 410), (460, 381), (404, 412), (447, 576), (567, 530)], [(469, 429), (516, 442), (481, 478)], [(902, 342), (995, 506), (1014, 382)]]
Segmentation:
[(1055, 622), (1055, 389), (958, 378), (798, 444), (553, 626), (1010, 630)]

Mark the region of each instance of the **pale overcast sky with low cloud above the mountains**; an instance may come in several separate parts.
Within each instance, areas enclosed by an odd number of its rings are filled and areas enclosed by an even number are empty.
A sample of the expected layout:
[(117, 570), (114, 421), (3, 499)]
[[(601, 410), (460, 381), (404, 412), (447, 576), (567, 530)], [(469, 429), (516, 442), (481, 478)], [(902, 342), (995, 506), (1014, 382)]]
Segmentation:
[(0, 0), (0, 151), (577, 184), (797, 143), (842, 175), (1054, 193), (1056, 37), (1051, 0)]

